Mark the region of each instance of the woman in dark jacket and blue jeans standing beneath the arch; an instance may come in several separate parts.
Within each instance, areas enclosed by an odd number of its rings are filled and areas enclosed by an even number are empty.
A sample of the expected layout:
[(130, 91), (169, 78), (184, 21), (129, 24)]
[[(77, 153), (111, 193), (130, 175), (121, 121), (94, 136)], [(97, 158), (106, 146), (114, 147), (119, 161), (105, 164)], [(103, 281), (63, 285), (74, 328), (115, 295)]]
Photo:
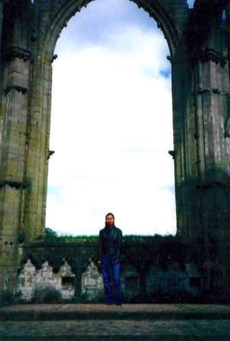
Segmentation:
[[(123, 233), (114, 224), (114, 214), (107, 213), (105, 216), (105, 227), (99, 233), (99, 260), (102, 266), (105, 299), (107, 305), (112, 305), (114, 296), (116, 305), (121, 305), (120, 299), (120, 251), (123, 241)], [(111, 275), (112, 274), (112, 275)]]

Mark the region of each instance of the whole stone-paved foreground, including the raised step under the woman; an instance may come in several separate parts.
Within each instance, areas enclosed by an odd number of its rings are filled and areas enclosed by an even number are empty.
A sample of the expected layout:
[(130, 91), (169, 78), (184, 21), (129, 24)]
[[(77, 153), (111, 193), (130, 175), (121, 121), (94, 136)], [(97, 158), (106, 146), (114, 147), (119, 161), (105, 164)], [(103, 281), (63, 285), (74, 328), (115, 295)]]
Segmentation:
[[(185, 314), (181, 319), (179, 312)], [(18, 315), (12, 314), (17, 312)], [(25, 312), (31, 315), (24, 316)], [(41, 313), (47, 313), (46, 315)], [(49, 313), (64, 312), (51, 320)], [(90, 315), (73, 318), (73, 312), (103, 312), (113, 318)], [(123, 312), (127, 315), (123, 316)], [(151, 314), (157, 312), (154, 316)], [(0, 310), (0, 340), (230, 340), (228, 305), (16, 305)], [(9, 315), (4, 315), (5, 313)], [(141, 316), (137, 313), (144, 313)], [(167, 313), (167, 314), (166, 314)], [(170, 313), (170, 314), (169, 314)], [(69, 314), (69, 315), (68, 315)], [(72, 314), (72, 315), (71, 315)], [(150, 315), (148, 315), (150, 314)], [(186, 315), (187, 314), (187, 315)], [(197, 315), (198, 314), (198, 315)], [(12, 316), (16, 320), (10, 320)], [(196, 318), (194, 318), (196, 316)], [(197, 318), (198, 316), (198, 318)], [(55, 315), (57, 317), (57, 315)], [(117, 318), (116, 318), (117, 317)], [(144, 317), (144, 318), (143, 318)], [(70, 319), (69, 319), (70, 318)]]

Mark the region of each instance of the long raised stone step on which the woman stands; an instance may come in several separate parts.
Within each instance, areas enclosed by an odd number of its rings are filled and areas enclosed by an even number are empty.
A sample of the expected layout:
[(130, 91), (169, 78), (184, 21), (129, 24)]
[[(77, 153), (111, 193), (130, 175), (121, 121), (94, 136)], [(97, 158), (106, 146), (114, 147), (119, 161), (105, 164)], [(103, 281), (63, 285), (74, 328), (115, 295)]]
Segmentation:
[(3, 321), (31, 320), (230, 320), (229, 305), (47, 304), (1, 307)]

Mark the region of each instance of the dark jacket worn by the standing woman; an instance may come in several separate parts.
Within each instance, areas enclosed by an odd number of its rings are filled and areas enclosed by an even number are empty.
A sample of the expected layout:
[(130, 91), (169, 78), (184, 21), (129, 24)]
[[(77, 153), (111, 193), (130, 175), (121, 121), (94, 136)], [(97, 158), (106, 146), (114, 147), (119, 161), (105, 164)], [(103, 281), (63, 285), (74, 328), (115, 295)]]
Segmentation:
[(99, 260), (103, 255), (115, 255), (120, 260), (120, 249), (122, 246), (123, 234), (114, 225), (112, 229), (104, 227), (99, 233)]

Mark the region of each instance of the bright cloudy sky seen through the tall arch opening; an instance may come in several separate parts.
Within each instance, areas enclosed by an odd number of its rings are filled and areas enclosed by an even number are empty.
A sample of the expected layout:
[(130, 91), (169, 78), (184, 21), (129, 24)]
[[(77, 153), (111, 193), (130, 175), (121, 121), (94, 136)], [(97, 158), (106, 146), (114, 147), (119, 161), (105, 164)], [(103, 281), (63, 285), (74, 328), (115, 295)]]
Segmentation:
[[(194, 1), (190, 1), (190, 7)], [(63, 29), (53, 62), (46, 227), (176, 233), (168, 45), (127, 0), (96, 0)]]

